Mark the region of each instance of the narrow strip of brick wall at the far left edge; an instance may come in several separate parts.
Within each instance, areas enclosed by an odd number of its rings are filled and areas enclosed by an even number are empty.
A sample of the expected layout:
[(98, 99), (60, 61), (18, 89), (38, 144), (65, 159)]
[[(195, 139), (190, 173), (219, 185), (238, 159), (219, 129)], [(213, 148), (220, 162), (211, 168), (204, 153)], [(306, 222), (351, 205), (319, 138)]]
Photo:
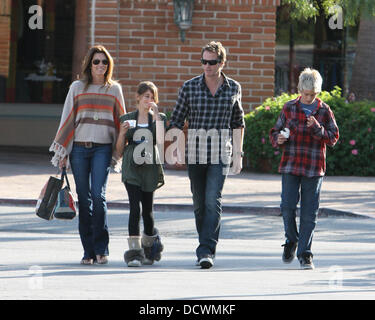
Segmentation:
[(8, 77), (10, 48), (10, 0), (0, 2), (0, 76)]

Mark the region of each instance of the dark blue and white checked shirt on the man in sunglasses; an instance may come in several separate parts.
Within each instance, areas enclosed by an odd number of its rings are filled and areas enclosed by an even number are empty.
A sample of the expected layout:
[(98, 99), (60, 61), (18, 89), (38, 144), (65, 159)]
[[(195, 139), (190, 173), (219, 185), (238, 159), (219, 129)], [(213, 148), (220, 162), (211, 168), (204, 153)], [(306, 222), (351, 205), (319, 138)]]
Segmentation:
[(245, 127), (241, 85), (224, 73), (222, 76), (224, 82), (214, 96), (204, 81), (204, 74), (186, 81), (179, 90), (170, 128), (182, 130), (185, 119), (188, 120), (189, 164), (219, 163), (220, 160), (228, 163), (225, 161), (229, 161), (232, 152), (232, 129)]

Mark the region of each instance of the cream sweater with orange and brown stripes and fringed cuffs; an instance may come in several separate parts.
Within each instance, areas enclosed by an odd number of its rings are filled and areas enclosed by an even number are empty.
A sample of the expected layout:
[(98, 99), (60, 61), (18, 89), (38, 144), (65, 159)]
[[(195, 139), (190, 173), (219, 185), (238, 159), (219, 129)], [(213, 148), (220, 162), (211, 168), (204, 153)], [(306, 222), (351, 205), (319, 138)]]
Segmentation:
[(112, 143), (117, 139), (120, 116), (125, 113), (121, 85), (89, 85), (74, 81), (65, 99), (60, 125), (50, 147), (54, 166), (69, 155), (74, 141)]

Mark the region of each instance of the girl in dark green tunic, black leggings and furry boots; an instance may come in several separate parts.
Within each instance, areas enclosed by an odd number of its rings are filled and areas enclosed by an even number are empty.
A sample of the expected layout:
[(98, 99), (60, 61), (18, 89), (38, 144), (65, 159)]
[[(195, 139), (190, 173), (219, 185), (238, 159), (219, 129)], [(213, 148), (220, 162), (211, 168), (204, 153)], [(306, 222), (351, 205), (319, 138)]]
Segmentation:
[[(122, 181), (128, 192), (129, 250), (125, 262), (129, 267), (159, 261), (163, 245), (154, 227), (154, 191), (164, 184), (156, 144), (163, 143), (166, 116), (158, 110), (158, 89), (149, 81), (141, 82), (136, 94), (137, 110), (121, 117), (117, 154), (123, 154)], [(142, 204), (142, 213), (140, 210)], [(140, 236), (140, 218), (144, 232)]]

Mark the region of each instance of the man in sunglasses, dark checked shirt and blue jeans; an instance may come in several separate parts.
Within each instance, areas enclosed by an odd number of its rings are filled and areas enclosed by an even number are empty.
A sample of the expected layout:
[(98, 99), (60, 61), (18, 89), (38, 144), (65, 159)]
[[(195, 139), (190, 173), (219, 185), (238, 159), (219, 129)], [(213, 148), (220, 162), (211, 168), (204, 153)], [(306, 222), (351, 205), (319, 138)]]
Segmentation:
[[(233, 158), (232, 172), (242, 169), (244, 112), (241, 86), (223, 72), (226, 50), (220, 42), (202, 48), (203, 74), (180, 88), (170, 127), (188, 120), (188, 174), (199, 235), (198, 264), (214, 264), (221, 221), (221, 192)], [(233, 140), (233, 150), (232, 150)], [(178, 151), (180, 154), (183, 150)]]

